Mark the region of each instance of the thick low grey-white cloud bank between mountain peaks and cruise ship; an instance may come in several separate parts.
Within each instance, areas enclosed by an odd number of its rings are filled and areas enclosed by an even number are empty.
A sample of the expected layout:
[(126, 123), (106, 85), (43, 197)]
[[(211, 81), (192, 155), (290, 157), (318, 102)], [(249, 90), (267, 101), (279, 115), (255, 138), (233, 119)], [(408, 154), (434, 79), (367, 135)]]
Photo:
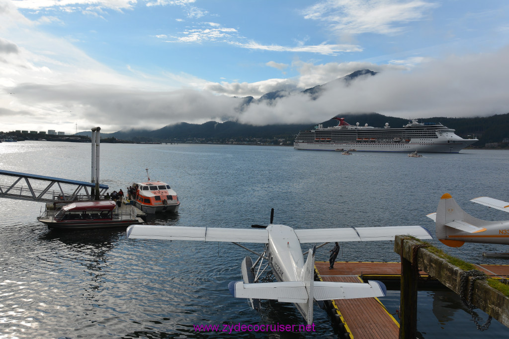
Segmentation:
[[(276, 105), (249, 106), (242, 122), (262, 124), (325, 121), (347, 112), (378, 112), (390, 117), (474, 117), (509, 112), (505, 60), (509, 47), (496, 53), (451, 55), (402, 71), (387, 67), (349, 86), (332, 84), (322, 96), (285, 97)], [(369, 122), (366, 122), (369, 123)]]

